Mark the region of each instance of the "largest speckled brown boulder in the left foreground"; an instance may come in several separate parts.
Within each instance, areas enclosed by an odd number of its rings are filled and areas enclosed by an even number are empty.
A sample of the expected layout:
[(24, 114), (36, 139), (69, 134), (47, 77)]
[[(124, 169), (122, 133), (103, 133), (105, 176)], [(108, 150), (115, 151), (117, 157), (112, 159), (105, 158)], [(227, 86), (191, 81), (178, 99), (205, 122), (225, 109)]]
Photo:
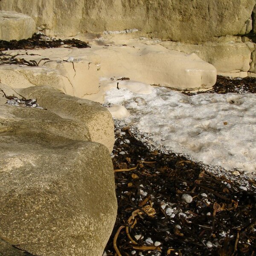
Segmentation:
[[(102, 256), (117, 209), (108, 149), (90, 142), (86, 125), (70, 115), (4, 101), (1, 98), (0, 255), (26, 251)], [(83, 108), (85, 101), (80, 103)]]

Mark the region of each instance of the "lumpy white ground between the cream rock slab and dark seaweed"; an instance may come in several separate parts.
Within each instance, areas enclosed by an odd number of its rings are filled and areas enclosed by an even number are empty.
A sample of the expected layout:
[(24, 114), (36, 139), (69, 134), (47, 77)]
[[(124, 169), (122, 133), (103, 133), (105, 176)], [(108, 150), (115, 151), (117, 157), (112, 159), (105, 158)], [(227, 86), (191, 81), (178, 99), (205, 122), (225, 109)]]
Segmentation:
[(255, 94), (186, 96), (135, 81), (102, 79), (101, 84), (108, 88), (106, 104), (122, 105), (130, 112), (127, 116), (121, 109), (121, 115), (115, 114), (166, 149), (212, 166), (256, 171)]

